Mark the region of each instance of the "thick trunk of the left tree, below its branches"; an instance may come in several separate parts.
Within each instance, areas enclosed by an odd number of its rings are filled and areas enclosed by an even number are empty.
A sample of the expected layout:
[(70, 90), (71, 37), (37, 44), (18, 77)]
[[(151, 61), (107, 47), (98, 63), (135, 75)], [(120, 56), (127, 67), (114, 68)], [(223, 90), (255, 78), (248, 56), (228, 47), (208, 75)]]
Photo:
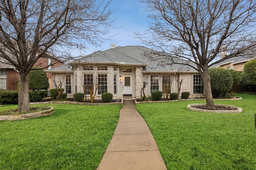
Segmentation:
[(18, 111), (29, 111), (29, 74), (19, 72)]

